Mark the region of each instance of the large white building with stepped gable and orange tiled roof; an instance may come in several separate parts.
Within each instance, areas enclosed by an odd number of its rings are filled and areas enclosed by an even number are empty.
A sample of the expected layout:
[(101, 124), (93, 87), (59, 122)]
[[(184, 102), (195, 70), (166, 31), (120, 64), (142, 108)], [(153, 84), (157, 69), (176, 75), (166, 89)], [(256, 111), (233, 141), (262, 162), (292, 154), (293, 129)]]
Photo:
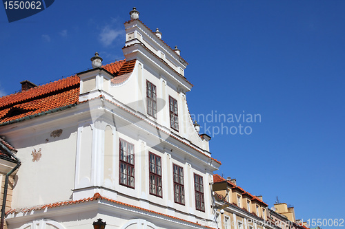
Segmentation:
[[(130, 12), (125, 61), (0, 99), (17, 149), (8, 228), (208, 228), (220, 162), (190, 118), (188, 63)], [(97, 67), (98, 66), (98, 67)], [(201, 223), (203, 222), (203, 223)], [(202, 224), (202, 225), (201, 225)]]

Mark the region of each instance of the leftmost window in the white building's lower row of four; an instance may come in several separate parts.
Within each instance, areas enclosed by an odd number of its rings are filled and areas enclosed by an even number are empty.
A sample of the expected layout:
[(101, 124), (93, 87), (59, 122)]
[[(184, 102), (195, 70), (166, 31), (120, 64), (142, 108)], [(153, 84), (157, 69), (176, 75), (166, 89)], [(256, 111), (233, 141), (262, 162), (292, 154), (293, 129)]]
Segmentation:
[(134, 188), (134, 145), (120, 139), (119, 184)]

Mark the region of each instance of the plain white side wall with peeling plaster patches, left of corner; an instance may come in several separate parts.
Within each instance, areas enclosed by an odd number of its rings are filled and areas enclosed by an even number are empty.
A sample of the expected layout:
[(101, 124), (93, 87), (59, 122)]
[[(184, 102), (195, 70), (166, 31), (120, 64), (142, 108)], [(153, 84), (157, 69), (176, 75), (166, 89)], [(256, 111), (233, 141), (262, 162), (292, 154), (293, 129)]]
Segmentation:
[[(62, 132), (61, 132), (62, 130)], [(34, 131), (11, 142), (21, 160), (12, 208), (70, 199), (75, 179), (77, 127)], [(34, 157), (34, 153), (41, 153)]]

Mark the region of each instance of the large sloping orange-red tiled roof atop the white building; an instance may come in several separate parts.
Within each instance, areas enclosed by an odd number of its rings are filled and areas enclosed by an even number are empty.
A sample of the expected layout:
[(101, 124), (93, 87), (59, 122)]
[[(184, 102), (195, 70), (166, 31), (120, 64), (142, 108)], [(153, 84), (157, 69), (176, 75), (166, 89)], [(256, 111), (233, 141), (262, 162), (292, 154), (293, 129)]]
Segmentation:
[[(132, 72), (135, 67), (135, 60), (117, 61), (102, 67), (116, 78)], [(40, 113), (53, 109), (77, 105), (79, 87), (80, 78), (75, 75), (33, 87), (27, 91), (3, 96), (0, 98), (0, 124), (8, 124), (15, 120), (39, 116)]]

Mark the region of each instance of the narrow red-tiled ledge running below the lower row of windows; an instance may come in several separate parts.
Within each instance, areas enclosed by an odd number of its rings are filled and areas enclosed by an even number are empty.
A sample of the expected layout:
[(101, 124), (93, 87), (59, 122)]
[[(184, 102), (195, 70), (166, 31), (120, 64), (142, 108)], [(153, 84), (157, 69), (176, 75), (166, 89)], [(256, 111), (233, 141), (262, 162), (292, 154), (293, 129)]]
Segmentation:
[[(131, 205), (131, 204), (126, 204), (126, 203), (123, 203), (123, 202), (120, 202), (120, 201), (116, 201), (114, 199), (109, 199), (107, 197), (102, 197), (101, 194), (99, 193), (95, 193), (95, 195), (93, 195), (93, 197), (88, 197), (88, 198), (85, 198), (85, 199), (79, 199), (79, 200), (70, 200), (70, 201), (62, 201), (62, 202), (57, 202), (57, 203), (52, 203), (52, 204), (44, 204), (44, 205), (40, 205), (40, 206), (34, 206), (32, 208), (21, 208), (21, 209), (11, 209), (11, 210), (8, 210), (8, 212), (6, 212), (6, 215), (9, 215), (9, 214), (12, 214), (12, 213), (19, 213), (19, 212), (30, 212), (31, 210), (42, 210), (42, 209), (46, 209), (46, 208), (56, 208), (56, 207), (61, 207), (61, 206), (64, 206), (64, 205), (70, 205), (70, 204), (80, 204), (80, 203), (83, 203), (83, 202), (88, 202), (88, 201), (94, 201), (94, 200), (97, 200), (97, 199), (103, 199), (103, 200), (106, 200), (106, 201), (110, 201), (112, 203), (115, 203), (115, 204), (119, 204), (119, 205), (122, 205), (122, 206), (128, 206), (130, 208), (135, 208), (137, 210), (142, 210), (142, 211), (145, 211), (145, 212), (151, 212), (155, 215), (162, 215), (164, 217), (168, 217), (168, 218), (171, 218), (171, 219), (177, 219), (179, 221), (184, 221), (186, 223), (192, 223), (192, 224), (195, 224), (197, 226), (202, 226), (201, 224), (199, 223), (194, 223), (192, 221), (188, 221), (186, 219), (180, 219), (180, 218), (177, 218), (177, 217), (174, 217), (174, 216), (171, 216), (171, 215), (166, 215), (166, 214), (163, 214), (161, 212), (155, 212), (154, 210), (148, 210), (146, 208), (141, 208), (141, 207), (137, 207), (137, 206), (134, 206), (134, 205)], [(211, 227), (208, 227), (208, 226), (203, 226), (204, 228), (211, 228)], [(214, 228), (212, 228), (214, 229)]]

